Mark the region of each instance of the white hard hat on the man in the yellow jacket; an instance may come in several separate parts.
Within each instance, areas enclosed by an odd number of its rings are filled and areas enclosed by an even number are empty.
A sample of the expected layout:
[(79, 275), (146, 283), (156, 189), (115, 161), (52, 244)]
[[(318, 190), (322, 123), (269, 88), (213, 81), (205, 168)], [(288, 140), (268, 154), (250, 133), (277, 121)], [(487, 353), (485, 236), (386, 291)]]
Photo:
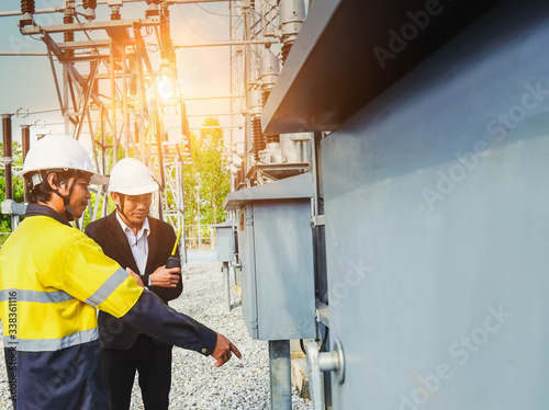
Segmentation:
[(85, 171), (91, 174), (91, 184), (103, 185), (109, 182), (108, 176), (93, 172), (86, 148), (66, 135), (48, 135), (38, 139), (26, 155), (21, 175), (32, 178), (36, 185), (42, 181), (40, 171), (48, 170)]

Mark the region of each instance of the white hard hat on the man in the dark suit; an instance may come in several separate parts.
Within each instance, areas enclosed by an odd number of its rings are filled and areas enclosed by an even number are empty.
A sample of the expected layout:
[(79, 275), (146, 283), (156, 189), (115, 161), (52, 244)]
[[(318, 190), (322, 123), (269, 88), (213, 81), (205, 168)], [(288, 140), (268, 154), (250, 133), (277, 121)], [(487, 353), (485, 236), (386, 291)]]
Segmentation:
[(110, 192), (124, 195), (143, 195), (158, 190), (147, 167), (135, 158), (123, 158), (111, 170)]

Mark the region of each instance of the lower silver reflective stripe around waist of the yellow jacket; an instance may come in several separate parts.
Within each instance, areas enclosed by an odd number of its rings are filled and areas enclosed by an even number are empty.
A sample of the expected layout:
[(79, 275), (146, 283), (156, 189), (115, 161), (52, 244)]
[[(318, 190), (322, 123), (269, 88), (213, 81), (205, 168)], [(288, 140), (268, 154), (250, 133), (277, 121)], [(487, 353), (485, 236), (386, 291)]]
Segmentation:
[(4, 349), (15, 348), (21, 352), (54, 352), (57, 350), (89, 343), (99, 339), (98, 328), (82, 330), (60, 339), (11, 339), (3, 337)]

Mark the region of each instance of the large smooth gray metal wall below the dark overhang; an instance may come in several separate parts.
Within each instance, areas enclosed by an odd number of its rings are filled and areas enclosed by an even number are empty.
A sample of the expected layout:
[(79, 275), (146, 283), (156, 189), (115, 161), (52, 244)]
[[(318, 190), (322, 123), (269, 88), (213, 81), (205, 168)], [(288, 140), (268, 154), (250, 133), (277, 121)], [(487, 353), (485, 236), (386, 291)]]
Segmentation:
[(502, 2), (323, 140), (335, 410), (549, 407), (548, 41)]

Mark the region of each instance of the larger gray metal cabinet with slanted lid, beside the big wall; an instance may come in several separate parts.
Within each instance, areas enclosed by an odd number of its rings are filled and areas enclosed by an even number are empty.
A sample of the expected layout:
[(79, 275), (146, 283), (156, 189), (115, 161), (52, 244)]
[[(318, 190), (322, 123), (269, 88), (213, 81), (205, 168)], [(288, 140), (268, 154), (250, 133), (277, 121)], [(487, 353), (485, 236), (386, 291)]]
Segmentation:
[(309, 174), (233, 192), (243, 316), (254, 339), (315, 338)]

